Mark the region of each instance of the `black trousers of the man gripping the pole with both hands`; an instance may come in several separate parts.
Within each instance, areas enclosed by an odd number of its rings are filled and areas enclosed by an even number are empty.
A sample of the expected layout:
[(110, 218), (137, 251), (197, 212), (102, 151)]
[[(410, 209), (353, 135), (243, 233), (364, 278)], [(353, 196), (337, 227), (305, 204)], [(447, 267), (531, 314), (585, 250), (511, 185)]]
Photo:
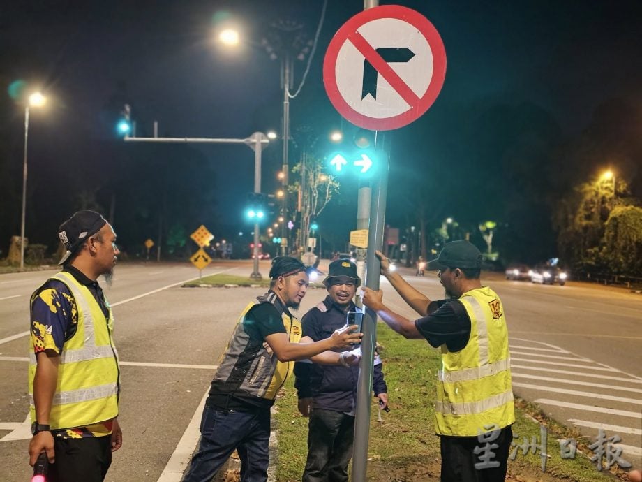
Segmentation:
[[(477, 437), (441, 438), (442, 482), (504, 482), (508, 453), (513, 440), (513, 431), (508, 425), (500, 430), (492, 441), (480, 441)], [(493, 454), (484, 463), (486, 444)], [(494, 447), (493, 445), (497, 445)], [(477, 453), (475, 448), (477, 447)], [(480, 458), (480, 456), (482, 458)], [(477, 467), (475, 467), (477, 465)], [(497, 465), (497, 467), (493, 467)]]

